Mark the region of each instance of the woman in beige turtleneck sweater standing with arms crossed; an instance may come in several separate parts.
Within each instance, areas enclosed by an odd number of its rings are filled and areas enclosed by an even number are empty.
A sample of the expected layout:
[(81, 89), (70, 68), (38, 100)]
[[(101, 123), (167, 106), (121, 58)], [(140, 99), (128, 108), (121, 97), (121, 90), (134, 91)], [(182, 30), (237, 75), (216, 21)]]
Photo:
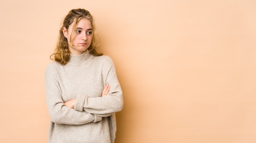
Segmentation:
[(92, 15), (71, 10), (59, 34), (45, 72), (49, 143), (114, 143), (122, 91), (111, 58), (95, 50)]

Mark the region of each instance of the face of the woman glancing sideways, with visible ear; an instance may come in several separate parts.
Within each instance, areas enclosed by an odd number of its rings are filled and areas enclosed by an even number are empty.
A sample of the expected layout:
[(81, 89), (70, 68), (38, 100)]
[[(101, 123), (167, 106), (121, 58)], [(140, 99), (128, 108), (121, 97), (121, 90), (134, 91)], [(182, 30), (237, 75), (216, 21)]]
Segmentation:
[(79, 55), (85, 52), (92, 42), (92, 24), (90, 20), (85, 18), (81, 19), (76, 26), (76, 33), (72, 34), (73, 39), (70, 43), (70, 36), (74, 22), (69, 26), (68, 29), (63, 27), (63, 34), (67, 38), (68, 49), (73, 55)]

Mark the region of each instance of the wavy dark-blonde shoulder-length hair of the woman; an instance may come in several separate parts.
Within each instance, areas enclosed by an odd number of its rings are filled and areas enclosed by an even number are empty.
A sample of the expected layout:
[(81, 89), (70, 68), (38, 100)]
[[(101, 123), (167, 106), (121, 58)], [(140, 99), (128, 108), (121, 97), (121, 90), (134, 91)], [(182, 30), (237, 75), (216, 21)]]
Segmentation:
[[(97, 37), (97, 35), (95, 34), (94, 19), (90, 14), (90, 12), (85, 9), (72, 9), (63, 20), (62, 27), (59, 30), (59, 38), (58, 38), (56, 48), (54, 50), (54, 53), (50, 56), (51, 60), (56, 61), (61, 65), (67, 64), (67, 62), (70, 60), (70, 51), (68, 50), (67, 38), (65, 38), (63, 35), (63, 27), (68, 29), (69, 26), (73, 22), (75, 22), (74, 26), (72, 27), (73, 28), (72, 31), (75, 31), (75, 28), (78, 22), (83, 18), (90, 20), (92, 24), (92, 42), (88, 48), (88, 52), (90, 52), (90, 54), (94, 56), (103, 55), (103, 53), (98, 53), (96, 51), (96, 47), (99, 45), (99, 37)], [(73, 42), (72, 42), (73, 37), (74, 35), (71, 34), (70, 43), (72, 45), (73, 45)]]

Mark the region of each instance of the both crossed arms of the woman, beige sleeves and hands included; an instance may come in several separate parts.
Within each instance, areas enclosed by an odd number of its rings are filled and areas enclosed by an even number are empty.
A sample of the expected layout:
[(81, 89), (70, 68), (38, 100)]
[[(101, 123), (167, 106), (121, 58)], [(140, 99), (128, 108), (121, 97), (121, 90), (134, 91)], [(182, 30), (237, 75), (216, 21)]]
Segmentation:
[(58, 80), (56, 67), (54, 65), (47, 67), (45, 72), (47, 108), (51, 120), (56, 124), (87, 124), (101, 121), (102, 117), (121, 111), (122, 91), (113, 66), (110, 66), (106, 76), (105, 83), (109, 85), (104, 87), (101, 97), (80, 94), (73, 100), (63, 102)]

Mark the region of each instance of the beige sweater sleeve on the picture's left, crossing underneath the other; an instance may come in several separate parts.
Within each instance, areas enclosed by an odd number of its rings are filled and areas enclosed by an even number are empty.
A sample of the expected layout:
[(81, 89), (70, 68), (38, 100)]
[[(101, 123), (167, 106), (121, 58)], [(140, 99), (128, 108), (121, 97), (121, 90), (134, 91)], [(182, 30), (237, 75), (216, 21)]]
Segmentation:
[(92, 113), (76, 111), (65, 106), (61, 87), (54, 66), (47, 66), (45, 71), (45, 92), (51, 121), (56, 124), (80, 125), (101, 121), (102, 117)]

